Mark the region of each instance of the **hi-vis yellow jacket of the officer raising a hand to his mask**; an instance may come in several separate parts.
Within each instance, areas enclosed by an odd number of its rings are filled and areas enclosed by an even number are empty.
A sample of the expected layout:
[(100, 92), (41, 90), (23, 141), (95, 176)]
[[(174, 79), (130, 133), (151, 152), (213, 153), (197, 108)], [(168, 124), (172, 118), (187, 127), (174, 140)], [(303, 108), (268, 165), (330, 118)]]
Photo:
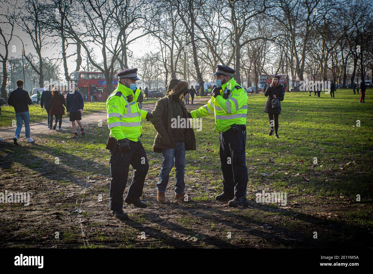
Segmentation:
[[(191, 111), (193, 118), (215, 114), (215, 131), (225, 132), (231, 125), (245, 125), (247, 116), (248, 95), (244, 88), (239, 86), (232, 77), (221, 86), (220, 95), (211, 97), (203, 107)], [(228, 88), (231, 92), (228, 99), (224, 99), (224, 90)]]

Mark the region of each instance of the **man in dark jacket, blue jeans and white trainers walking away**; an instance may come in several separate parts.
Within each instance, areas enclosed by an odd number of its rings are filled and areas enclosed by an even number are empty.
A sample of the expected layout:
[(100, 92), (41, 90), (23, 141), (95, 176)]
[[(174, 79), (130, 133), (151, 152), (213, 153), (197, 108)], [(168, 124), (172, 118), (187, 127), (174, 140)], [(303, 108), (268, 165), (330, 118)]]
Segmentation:
[(19, 145), (18, 138), (21, 134), (22, 123), (25, 123), (25, 136), (28, 143), (34, 142), (30, 138), (30, 113), (28, 111), (28, 105), (32, 104), (31, 98), (28, 92), (23, 89), (23, 81), (17, 81), (18, 88), (10, 92), (8, 98), (8, 104), (14, 107), (14, 112), (17, 120), (16, 134), (13, 138), (15, 145)]

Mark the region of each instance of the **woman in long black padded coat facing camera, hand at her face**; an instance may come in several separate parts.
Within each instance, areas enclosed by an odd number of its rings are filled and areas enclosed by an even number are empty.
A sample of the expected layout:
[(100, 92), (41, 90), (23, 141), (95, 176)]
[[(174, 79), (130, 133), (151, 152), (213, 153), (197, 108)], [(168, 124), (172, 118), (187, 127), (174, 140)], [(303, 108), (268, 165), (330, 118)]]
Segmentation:
[[(279, 114), (281, 113), (280, 101), (283, 101), (283, 97), (285, 95), (283, 85), (280, 84), (279, 81), (280, 78), (278, 76), (275, 76), (272, 79), (272, 83), (267, 87), (264, 96), (268, 96), (268, 99), (266, 101), (266, 104), (264, 105), (263, 110), (264, 112), (268, 113), (269, 125), (271, 127), (269, 130), (269, 136), (271, 136), (273, 134), (273, 131), (275, 131), (276, 138), (279, 138)], [(277, 106), (273, 107), (272, 104), (273, 106)]]

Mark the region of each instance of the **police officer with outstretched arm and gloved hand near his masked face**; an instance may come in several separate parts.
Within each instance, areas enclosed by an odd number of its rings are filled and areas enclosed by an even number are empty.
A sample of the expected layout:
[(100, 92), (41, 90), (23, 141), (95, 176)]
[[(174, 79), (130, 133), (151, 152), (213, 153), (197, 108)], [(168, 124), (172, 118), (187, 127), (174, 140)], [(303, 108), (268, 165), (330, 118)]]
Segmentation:
[(230, 207), (247, 202), (246, 115), (248, 95), (239, 86), (233, 75), (235, 70), (217, 65), (216, 87), (212, 97), (203, 107), (191, 111), (190, 118), (214, 114), (215, 131), (220, 133), (219, 157), (223, 173), (223, 193), (216, 195), (218, 201), (229, 201)]

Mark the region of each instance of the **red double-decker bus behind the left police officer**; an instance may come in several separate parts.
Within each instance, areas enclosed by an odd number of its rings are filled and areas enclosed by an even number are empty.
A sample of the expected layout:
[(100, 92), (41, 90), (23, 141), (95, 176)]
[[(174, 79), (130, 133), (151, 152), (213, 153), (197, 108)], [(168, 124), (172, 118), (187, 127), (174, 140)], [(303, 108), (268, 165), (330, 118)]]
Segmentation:
[[(107, 94), (105, 76), (102, 72), (76, 71), (70, 73), (72, 82), (78, 83), (79, 92), (84, 101), (106, 101), (110, 94)], [(118, 85), (116, 72), (113, 76), (113, 91)]]

